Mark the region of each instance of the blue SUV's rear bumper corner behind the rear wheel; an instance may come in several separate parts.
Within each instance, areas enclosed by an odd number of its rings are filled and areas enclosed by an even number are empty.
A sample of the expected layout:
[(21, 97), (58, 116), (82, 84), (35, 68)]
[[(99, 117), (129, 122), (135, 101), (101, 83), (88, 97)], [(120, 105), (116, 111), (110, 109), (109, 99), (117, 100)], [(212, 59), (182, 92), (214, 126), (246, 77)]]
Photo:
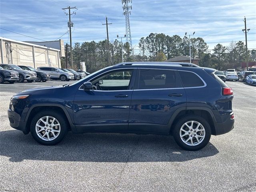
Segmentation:
[(235, 120), (231, 119), (231, 116), (233, 114), (234, 114), (233, 112), (230, 113), (230, 115), (226, 119), (226, 121), (224, 121), (222, 123), (216, 123), (216, 125), (215, 125), (215, 131), (216, 131), (215, 135), (222, 135), (222, 134), (228, 133), (232, 129), (234, 129)]

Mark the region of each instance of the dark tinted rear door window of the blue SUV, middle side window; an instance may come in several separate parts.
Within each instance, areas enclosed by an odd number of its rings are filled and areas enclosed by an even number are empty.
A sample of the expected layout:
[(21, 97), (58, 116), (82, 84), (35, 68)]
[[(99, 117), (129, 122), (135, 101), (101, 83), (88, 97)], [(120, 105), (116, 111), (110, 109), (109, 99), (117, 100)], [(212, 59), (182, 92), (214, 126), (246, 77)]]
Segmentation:
[(181, 88), (176, 70), (140, 69), (138, 89)]

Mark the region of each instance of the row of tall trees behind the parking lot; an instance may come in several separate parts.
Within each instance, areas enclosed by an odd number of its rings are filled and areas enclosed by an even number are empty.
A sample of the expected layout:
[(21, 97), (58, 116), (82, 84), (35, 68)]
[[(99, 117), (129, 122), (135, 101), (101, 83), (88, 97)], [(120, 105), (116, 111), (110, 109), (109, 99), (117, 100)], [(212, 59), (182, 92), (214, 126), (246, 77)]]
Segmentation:
[[(239, 69), (241, 62), (246, 61), (246, 46), (244, 42), (231, 42), (228, 46), (217, 44), (213, 50), (203, 38), (190, 38), (191, 58), (199, 58), (199, 66), (226, 70), (227, 68)], [(65, 45), (66, 48), (66, 45)], [(75, 43), (73, 50), (74, 69), (80, 68), (80, 61), (86, 63), (88, 72), (94, 72), (106, 66), (122, 62), (122, 44), (117, 39), (108, 45), (107, 40), (95, 42)], [(189, 38), (163, 33), (150, 33), (147, 37), (140, 38), (138, 47), (131, 48), (123, 42), (124, 62), (158, 61), (162, 62), (179, 55), (189, 56)], [(70, 46), (68, 45), (68, 68), (70, 65)], [(248, 60), (256, 61), (256, 50), (248, 50)], [(61, 59), (65, 68), (66, 59)]]

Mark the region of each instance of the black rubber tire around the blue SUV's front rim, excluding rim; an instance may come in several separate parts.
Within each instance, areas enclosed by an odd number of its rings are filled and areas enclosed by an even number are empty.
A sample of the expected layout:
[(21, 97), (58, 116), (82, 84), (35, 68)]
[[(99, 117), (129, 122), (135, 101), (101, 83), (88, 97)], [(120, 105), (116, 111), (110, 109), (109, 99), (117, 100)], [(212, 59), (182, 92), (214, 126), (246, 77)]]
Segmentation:
[[(36, 122), (44, 116), (52, 116), (52, 117), (56, 118), (56, 120), (58, 120), (58, 122), (60, 123), (60, 128), (61, 128), (60, 135), (52, 141), (42, 140), (36, 134)], [(38, 143), (40, 143), (42, 145), (55, 145), (55, 144), (58, 144), (66, 136), (66, 133), (68, 132), (67, 125), (68, 125), (68, 122), (66, 121), (66, 118), (62, 114), (55, 112), (55, 111), (42, 111), (42, 112), (39, 112), (38, 114), (36, 114), (34, 116), (34, 118), (32, 119), (31, 124), (30, 124), (30, 132), (31, 132), (33, 138)]]

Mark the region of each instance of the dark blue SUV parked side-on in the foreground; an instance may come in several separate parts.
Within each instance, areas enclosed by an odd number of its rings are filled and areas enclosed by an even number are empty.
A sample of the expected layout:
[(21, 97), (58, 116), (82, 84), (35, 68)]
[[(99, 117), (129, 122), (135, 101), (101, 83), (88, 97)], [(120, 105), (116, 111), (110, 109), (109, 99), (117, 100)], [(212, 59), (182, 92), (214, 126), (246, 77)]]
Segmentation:
[(234, 128), (233, 92), (216, 70), (190, 63), (127, 62), (74, 84), (34, 88), (11, 98), (10, 125), (44, 145), (75, 133), (173, 135), (186, 150)]

